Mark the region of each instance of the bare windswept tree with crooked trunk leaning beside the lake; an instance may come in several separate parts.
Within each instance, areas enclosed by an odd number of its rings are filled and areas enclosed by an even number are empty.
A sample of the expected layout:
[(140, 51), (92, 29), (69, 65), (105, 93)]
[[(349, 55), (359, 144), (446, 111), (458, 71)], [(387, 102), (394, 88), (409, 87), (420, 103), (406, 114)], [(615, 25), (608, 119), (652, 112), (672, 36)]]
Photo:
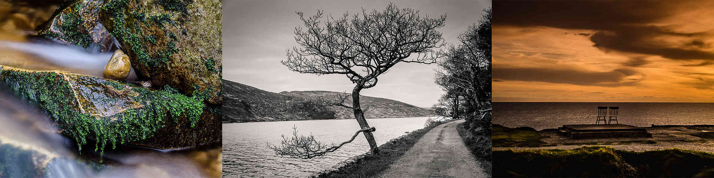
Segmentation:
[[(432, 19), (420, 16), (418, 10), (398, 9), (391, 3), (382, 11), (367, 12), (363, 9), (361, 14), (350, 16), (346, 13), (339, 18), (323, 18), (322, 11), (307, 18), (302, 12), (296, 13), (304, 23), (304, 27), (295, 28), (295, 41), (299, 47), (288, 50), (287, 60), (281, 63), (299, 73), (346, 75), (355, 84), (350, 95), (352, 103), (333, 104), (353, 110), (360, 125), (358, 132), (363, 132), (371, 152), (378, 155), (377, 143), (372, 135), (374, 129), (369, 127), (360, 105), (360, 92), (377, 85), (378, 76), (387, 73), (397, 63), (435, 63), (441, 54), (435, 49), (444, 46), (441, 33), (436, 30), (444, 26), (446, 15)], [(319, 142), (311, 137), (295, 135), (293, 138), (286, 140), (287, 145), (283, 142), (281, 147), (271, 148), (278, 155), (291, 155), (283, 152), (288, 150), (292, 155), (305, 158), (336, 150), (343, 145), (315, 147)], [(291, 141), (301, 141), (298, 143), (302, 144), (290, 145), (296, 143)], [(296, 152), (312, 155), (302, 156), (305, 154)]]

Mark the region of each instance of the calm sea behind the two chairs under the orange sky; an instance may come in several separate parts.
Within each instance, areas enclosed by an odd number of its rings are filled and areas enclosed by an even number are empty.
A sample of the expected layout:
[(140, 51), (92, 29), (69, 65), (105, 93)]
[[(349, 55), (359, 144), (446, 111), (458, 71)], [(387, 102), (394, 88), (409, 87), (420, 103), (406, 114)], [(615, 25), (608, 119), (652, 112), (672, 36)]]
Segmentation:
[(714, 103), (493, 103), (493, 123), (536, 130), (595, 124), (598, 106), (620, 107), (620, 124), (714, 125)]

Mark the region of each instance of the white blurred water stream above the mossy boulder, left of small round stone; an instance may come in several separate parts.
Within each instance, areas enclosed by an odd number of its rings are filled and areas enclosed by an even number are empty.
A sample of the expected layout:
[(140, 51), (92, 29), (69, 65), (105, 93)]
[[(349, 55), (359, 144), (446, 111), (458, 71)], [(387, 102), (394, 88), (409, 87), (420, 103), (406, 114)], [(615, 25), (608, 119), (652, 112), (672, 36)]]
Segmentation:
[[(108, 53), (90, 52), (79, 46), (58, 45), (53, 43), (24, 43), (0, 41), (0, 48), (22, 51), (64, 68), (78, 68), (71, 71), (84, 75), (104, 78), (104, 68), (114, 51)], [(127, 81), (136, 80), (134, 68), (129, 72)]]

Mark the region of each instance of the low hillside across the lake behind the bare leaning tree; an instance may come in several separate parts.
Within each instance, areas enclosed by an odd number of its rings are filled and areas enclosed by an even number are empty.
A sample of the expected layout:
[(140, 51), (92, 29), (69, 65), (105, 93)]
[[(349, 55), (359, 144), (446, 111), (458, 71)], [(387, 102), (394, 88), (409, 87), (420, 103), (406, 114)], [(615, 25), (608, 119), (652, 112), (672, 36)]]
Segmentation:
[[(272, 93), (223, 80), (223, 122), (268, 122), (282, 120), (351, 119), (352, 110), (340, 106), (320, 107), (312, 101), (330, 97), (330, 91), (292, 91)], [(346, 103), (351, 103), (346, 100)], [(423, 117), (430, 110), (386, 98), (361, 96), (365, 117)], [(334, 116), (332, 116), (334, 115)]]

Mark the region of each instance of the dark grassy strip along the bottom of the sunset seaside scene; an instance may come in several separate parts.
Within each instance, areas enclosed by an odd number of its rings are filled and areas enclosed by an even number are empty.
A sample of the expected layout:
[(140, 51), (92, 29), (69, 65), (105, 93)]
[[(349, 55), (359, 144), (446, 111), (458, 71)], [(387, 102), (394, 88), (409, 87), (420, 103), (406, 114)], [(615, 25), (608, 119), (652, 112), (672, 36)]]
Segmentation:
[(493, 151), (493, 177), (712, 177), (714, 154), (613, 147)]

